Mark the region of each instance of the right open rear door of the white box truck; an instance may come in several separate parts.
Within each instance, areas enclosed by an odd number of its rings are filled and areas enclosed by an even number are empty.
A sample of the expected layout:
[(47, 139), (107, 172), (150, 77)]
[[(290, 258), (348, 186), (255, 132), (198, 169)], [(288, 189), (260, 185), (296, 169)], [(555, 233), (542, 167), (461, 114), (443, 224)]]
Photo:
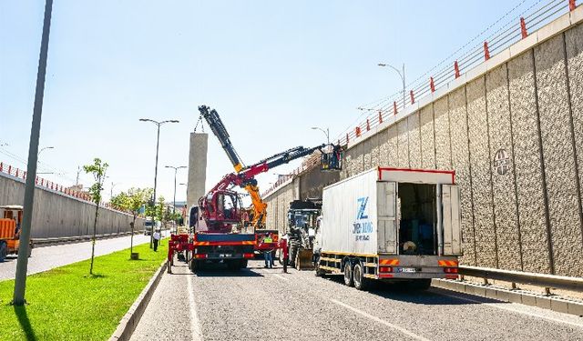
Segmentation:
[(462, 255), (462, 216), (459, 186), (442, 185), (444, 255)]

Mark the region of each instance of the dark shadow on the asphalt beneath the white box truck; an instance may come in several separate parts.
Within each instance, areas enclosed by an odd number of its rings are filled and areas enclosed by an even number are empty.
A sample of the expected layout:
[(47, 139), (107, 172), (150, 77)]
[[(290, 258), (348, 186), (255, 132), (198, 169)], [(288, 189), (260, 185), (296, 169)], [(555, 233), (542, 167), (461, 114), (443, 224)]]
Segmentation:
[[(343, 276), (327, 276), (327, 280), (337, 282), (344, 286)], [(479, 305), (483, 303), (504, 303), (495, 299), (471, 296), (464, 293), (457, 293), (437, 287), (428, 290), (415, 290), (407, 287), (406, 284), (394, 284), (377, 282), (368, 290), (370, 294), (381, 296), (395, 301), (409, 302), (428, 306), (452, 306), (452, 305)], [(459, 296), (459, 298), (455, 297)], [(466, 297), (467, 299), (464, 299)], [(477, 302), (473, 302), (477, 301)]]

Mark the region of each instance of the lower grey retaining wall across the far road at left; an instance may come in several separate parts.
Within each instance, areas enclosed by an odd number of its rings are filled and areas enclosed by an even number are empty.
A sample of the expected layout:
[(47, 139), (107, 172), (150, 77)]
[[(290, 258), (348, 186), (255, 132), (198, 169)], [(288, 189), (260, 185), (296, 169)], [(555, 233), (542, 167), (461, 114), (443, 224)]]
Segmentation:
[[(0, 173), (0, 206), (22, 205), (24, 180)], [(87, 236), (93, 233), (96, 206), (50, 189), (36, 187), (31, 237)], [(130, 231), (132, 216), (105, 207), (99, 208), (97, 235)], [(136, 229), (143, 229), (143, 219)]]

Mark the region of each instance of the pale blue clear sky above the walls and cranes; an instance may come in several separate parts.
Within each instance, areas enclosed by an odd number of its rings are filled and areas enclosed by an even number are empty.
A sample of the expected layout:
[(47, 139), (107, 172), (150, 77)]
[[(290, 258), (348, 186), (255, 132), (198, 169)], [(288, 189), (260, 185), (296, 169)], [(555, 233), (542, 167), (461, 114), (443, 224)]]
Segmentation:
[[(362, 114), (357, 106), (399, 91), (399, 76), (379, 62), (405, 63), (414, 80), (516, 5), (518, 15), (536, 2), (55, 0), (40, 142), (55, 149), (39, 171), (72, 185), (77, 166), (100, 157), (114, 194), (153, 186), (155, 126), (138, 118), (179, 119), (160, 135), (159, 193), (171, 199), (174, 173), (164, 165), (188, 165), (198, 105), (219, 111), (246, 164), (318, 145), (325, 136), (311, 126), (335, 137)], [(22, 168), (43, 10), (44, 1), (0, 0), (0, 161)], [(261, 176), (260, 186), (297, 165)], [(231, 169), (210, 135), (207, 187)], [(179, 187), (177, 200), (185, 196)]]

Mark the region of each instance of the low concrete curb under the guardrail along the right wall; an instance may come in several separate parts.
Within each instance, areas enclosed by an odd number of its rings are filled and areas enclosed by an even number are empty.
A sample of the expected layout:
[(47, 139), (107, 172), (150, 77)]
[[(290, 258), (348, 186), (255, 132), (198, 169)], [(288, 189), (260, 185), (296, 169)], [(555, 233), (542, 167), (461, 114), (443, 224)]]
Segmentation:
[(520, 303), (526, 306), (538, 306), (558, 313), (583, 316), (583, 302), (576, 300), (534, 294), (523, 290), (510, 290), (496, 286), (481, 286), (451, 279), (434, 279), (431, 285), (468, 295), (496, 299), (502, 302)]

